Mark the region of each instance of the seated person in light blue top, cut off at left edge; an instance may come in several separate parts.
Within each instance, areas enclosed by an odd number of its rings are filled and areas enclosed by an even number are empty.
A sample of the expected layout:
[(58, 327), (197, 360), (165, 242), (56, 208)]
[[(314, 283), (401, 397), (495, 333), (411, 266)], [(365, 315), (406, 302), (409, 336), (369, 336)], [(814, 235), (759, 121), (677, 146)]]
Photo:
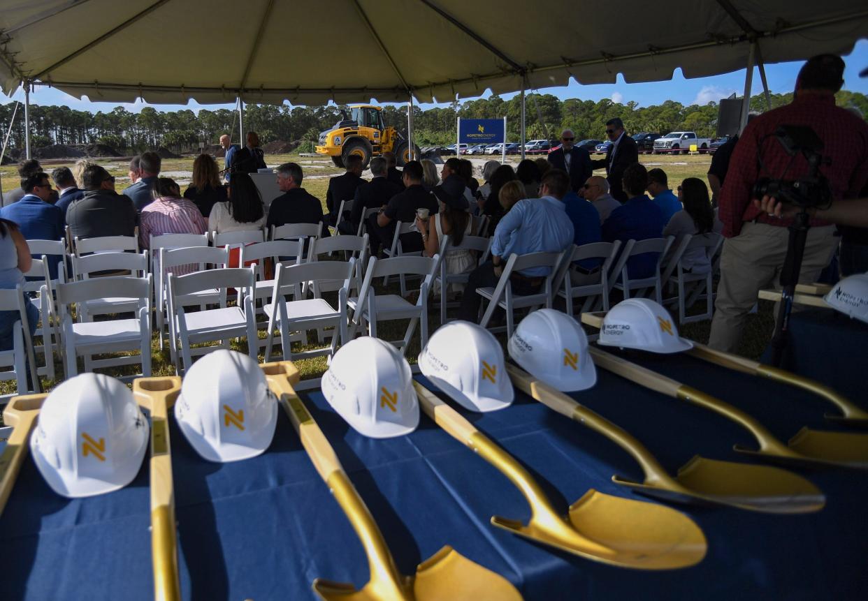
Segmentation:
[[(9, 219), (0, 219), (0, 288), (15, 290), (18, 284), (23, 285), (24, 273), (30, 271), (32, 263), (30, 248), (18, 225)], [(39, 323), (39, 310), (36, 304), (27, 301), (24, 308), (30, 336), (33, 336)], [(20, 316), (16, 310), (0, 311), (0, 350), (13, 348), (13, 331), (18, 319)]]

